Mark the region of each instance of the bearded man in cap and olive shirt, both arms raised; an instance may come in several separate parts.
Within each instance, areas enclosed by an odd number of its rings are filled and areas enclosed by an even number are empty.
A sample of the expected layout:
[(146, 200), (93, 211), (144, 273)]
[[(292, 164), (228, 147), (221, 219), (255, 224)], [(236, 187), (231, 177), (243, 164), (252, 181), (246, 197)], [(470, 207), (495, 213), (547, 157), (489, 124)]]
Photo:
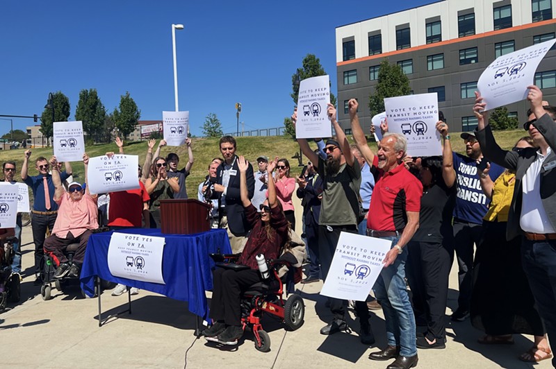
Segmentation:
[[(320, 270), (326, 280), (340, 232), (357, 234), (357, 216), (359, 216), (359, 187), (361, 169), (354, 159), (350, 143), (336, 121), (336, 108), (328, 104), (328, 117), (336, 130), (336, 139), (328, 139), (325, 144), (327, 159), (316, 154), (306, 139), (297, 139), (303, 154), (313, 163), (323, 181), (322, 204), (318, 218), (318, 243)], [(297, 112), (292, 115), (297, 121)], [(334, 318), (320, 329), (320, 334), (334, 334), (347, 330), (344, 300), (330, 298), (330, 310)], [(355, 310), (360, 319), (359, 336), (361, 343), (372, 345), (375, 337), (370, 329), (369, 313), (366, 302), (357, 301)]]

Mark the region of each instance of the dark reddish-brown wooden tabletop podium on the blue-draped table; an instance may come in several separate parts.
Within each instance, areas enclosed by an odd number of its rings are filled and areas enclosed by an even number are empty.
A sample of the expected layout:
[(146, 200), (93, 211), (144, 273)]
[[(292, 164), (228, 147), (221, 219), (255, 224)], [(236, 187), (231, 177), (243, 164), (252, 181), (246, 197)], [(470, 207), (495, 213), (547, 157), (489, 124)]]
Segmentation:
[(161, 228), (165, 234), (193, 234), (211, 229), (211, 206), (193, 198), (161, 200)]

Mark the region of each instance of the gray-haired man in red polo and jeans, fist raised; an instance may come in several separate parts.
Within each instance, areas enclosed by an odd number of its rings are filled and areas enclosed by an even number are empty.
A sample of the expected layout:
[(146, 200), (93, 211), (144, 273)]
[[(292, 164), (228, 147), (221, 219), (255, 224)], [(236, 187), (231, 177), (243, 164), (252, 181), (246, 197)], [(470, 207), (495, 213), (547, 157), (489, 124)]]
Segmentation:
[(373, 290), (384, 311), (388, 346), (371, 352), (369, 359), (386, 361), (395, 358), (387, 369), (411, 368), (417, 365), (416, 324), (405, 284), (404, 247), (419, 226), (420, 200), (423, 185), (403, 165), (407, 139), (398, 133), (386, 133), (378, 144), (377, 155), (367, 145), (367, 139), (357, 117), (357, 101), (349, 101), (350, 120), (357, 148), (371, 167), (376, 184), (370, 198), (367, 234), (392, 241), (384, 257)]

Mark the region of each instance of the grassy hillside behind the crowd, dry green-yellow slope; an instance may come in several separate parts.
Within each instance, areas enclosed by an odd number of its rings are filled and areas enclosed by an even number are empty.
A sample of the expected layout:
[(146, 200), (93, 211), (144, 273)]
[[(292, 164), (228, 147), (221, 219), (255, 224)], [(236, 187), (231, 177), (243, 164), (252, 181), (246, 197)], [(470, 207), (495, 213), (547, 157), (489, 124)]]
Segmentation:
[[(523, 130), (507, 130), (507, 131), (497, 131), (494, 134), (498, 141), (498, 144), (502, 148), (512, 148), (515, 142), (525, 135), (527, 132)], [(452, 137), (452, 147), (455, 151), (464, 153), (464, 141), (459, 139), (459, 133), (453, 132), (450, 134)], [(351, 137), (350, 137), (351, 139)], [(254, 164), (254, 169), (256, 170), (256, 164), (254, 163), (256, 157), (259, 155), (266, 155), (268, 157), (285, 157), (290, 162), (292, 167), (292, 175), (299, 175), (301, 168), (297, 167), (297, 159), (293, 159), (293, 155), (299, 153), (299, 146), (297, 142), (291, 138), (284, 136), (277, 137), (237, 137), (238, 150), (236, 153), (238, 155), (244, 155), (247, 160), (250, 160)], [(311, 143), (312, 146), (316, 148), (316, 144)], [(375, 142), (370, 142), (369, 145), (376, 151)], [(39, 156), (51, 157), (53, 151), (52, 148), (33, 148), (31, 154), (29, 175), (37, 175), (38, 172), (35, 170), (35, 159)], [(87, 153), (90, 157), (104, 155), (108, 151), (117, 152), (117, 146), (115, 144), (102, 144), (93, 145), (86, 148)], [(134, 141), (126, 143), (124, 146), (124, 151), (126, 154), (139, 155), (139, 163), (145, 161), (145, 155), (147, 154), (147, 142), (146, 141)], [(177, 153), (180, 157), (180, 168), (186, 163), (187, 160), (187, 150), (186, 147), (163, 147), (161, 155), (165, 156), (168, 153)], [(193, 154), (195, 156), (195, 164), (191, 170), (191, 174), (187, 178), (187, 192), (190, 198), (197, 198), (197, 187), (199, 183), (204, 180), (207, 175), (208, 164), (214, 157), (220, 157), (220, 150), (218, 148), (218, 139), (211, 138), (195, 138), (193, 139)], [(5, 162), (6, 160), (15, 160), (17, 162), (17, 180), (20, 180), (19, 174), (21, 172), (21, 166), (23, 163), (24, 150), (7, 150), (0, 151), (0, 162)], [(306, 164), (307, 160), (304, 157), (303, 163)], [(72, 167), (74, 171), (74, 178), (77, 181), (82, 182), (85, 178), (83, 175), (83, 163), (82, 162), (72, 162)]]

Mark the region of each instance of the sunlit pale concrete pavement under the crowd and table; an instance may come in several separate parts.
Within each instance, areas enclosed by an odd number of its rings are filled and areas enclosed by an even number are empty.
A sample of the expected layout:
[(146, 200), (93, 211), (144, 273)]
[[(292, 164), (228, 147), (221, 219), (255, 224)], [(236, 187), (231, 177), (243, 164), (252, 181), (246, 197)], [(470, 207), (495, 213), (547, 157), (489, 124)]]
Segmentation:
[[(52, 290), (53, 299), (43, 301), (31, 275), (33, 244), (31, 227), (22, 234), (22, 301), (0, 314), (0, 352), (4, 368), (386, 368), (390, 361), (368, 359), (376, 347), (386, 344), (382, 311), (373, 311), (371, 324), (377, 338), (373, 348), (359, 343), (358, 323), (350, 313), (351, 334), (322, 336), (320, 328), (332, 317), (319, 295), (322, 283), (298, 284), (305, 302), (305, 323), (286, 332), (272, 318), (263, 327), (272, 341), (268, 353), (254, 348), (252, 334), (245, 334), (237, 347), (216, 347), (195, 339), (195, 316), (187, 304), (140, 291), (132, 296), (133, 314), (97, 324), (97, 299), (81, 297), (79, 287), (70, 294)], [(457, 303), (457, 271), (450, 275), (449, 307)], [(516, 296), (516, 298), (518, 298)], [(126, 295), (102, 295), (103, 310), (110, 314), (126, 308)], [(447, 309), (450, 314), (451, 309)], [(533, 368), (517, 356), (532, 346), (531, 336), (514, 336), (514, 345), (480, 345), (482, 332), (469, 320), (451, 323), (448, 318), (445, 350), (419, 350), (418, 368)], [(535, 368), (551, 368), (543, 361)]]

